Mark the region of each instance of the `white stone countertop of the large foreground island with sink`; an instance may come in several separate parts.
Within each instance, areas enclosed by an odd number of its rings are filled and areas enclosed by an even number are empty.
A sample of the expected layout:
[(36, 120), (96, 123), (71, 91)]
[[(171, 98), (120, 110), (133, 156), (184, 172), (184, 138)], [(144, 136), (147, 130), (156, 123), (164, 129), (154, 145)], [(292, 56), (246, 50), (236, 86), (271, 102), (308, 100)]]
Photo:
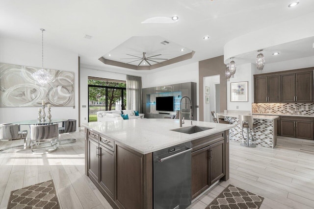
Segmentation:
[[(194, 134), (184, 134), (171, 129), (180, 128), (178, 119), (132, 119), (106, 122), (90, 122), (81, 125), (102, 134), (109, 139), (141, 153), (148, 154), (157, 150), (206, 137), (235, 127), (233, 124), (220, 124), (192, 121), (193, 125), (211, 129)], [(191, 120), (185, 120), (183, 127), (190, 126)]]

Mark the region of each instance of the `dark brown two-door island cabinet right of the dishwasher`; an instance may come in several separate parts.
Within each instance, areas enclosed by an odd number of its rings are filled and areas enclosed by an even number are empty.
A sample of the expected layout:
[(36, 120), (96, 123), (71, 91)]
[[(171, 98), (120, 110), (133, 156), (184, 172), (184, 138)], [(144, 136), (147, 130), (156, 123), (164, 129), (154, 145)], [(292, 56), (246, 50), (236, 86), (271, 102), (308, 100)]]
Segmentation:
[(192, 141), (192, 199), (225, 175), (223, 133)]

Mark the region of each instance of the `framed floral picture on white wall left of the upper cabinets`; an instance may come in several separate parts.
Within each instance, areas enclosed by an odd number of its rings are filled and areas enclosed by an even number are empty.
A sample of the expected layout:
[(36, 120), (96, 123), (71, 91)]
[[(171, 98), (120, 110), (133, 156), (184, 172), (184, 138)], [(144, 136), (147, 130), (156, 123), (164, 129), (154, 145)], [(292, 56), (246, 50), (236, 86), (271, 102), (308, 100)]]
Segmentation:
[(247, 102), (248, 101), (248, 81), (230, 83), (230, 101)]

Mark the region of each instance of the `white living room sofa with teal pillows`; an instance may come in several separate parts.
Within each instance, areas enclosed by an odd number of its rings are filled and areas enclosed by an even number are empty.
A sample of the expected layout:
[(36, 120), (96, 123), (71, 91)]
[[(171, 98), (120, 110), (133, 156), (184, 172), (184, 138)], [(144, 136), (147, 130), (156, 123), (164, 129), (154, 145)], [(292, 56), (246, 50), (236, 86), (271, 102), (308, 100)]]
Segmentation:
[(128, 115), (129, 119), (144, 118), (144, 114), (142, 113), (138, 114), (138, 116), (135, 116), (134, 110), (108, 110), (97, 112), (97, 121), (123, 120), (121, 114), (124, 116)]

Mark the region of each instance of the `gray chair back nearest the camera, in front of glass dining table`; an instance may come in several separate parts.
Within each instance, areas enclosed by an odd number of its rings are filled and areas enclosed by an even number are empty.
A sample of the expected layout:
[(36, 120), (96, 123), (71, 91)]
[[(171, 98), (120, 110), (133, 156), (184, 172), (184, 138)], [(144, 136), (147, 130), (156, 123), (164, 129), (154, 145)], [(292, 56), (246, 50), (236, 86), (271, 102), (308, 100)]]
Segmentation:
[(58, 124), (30, 125), (31, 140), (54, 139), (59, 136)]

